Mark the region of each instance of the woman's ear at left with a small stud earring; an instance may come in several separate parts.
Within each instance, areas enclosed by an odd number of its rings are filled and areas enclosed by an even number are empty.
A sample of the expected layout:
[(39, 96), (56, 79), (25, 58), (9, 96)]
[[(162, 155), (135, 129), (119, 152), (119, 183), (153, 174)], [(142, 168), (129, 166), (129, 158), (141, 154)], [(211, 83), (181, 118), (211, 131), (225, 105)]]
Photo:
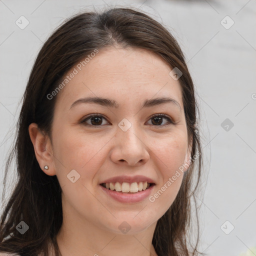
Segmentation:
[[(34, 154), (37, 162), (40, 165), (42, 171), (45, 174), (53, 176), (56, 175), (53, 159), (53, 151), (49, 136), (45, 135), (36, 123), (30, 123), (28, 126), (28, 132), (30, 139), (33, 143)], [(48, 165), (48, 169), (45, 170), (43, 167)]]

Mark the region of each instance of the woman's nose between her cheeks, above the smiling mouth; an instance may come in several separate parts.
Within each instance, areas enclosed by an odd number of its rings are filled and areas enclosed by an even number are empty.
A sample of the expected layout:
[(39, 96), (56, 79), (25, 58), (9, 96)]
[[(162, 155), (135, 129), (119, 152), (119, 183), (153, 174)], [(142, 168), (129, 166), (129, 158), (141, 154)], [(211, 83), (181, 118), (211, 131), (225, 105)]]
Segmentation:
[(147, 139), (133, 124), (126, 131), (117, 127), (113, 143), (110, 157), (115, 163), (140, 166), (149, 159)]

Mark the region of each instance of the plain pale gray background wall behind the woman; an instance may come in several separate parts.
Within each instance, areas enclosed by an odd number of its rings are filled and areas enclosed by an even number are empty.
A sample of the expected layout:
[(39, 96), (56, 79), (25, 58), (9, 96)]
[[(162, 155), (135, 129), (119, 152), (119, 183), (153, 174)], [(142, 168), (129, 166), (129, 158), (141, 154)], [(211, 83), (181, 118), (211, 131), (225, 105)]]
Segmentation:
[[(184, 51), (201, 111), (199, 249), (211, 256), (238, 256), (256, 246), (256, 0), (0, 0), (0, 191), (20, 98), (42, 43), (66, 17), (107, 4), (148, 12)], [(24, 29), (15, 24), (21, 15), (29, 21)], [(234, 22), (228, 29), (227, 15)], [(9, 177), (11, 186), (15, 172)]]

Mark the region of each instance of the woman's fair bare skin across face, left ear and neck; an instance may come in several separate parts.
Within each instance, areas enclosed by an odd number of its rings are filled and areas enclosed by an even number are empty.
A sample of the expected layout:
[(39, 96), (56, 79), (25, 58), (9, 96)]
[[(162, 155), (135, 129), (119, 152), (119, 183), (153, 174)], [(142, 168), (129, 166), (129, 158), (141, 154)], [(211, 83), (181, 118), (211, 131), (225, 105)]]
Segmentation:
[[(183, 173), (154, 202), (118, 202), (99, 183), (117, 175), (145, 175), (155, 181), (153, 195), (189, 160), (181, 86), (169, 76), (171, 69), (144, 49), (104, 49), (58, 92), (52, 140), (36, 123), (29, 125), (42, 171), (56, 175), (62, 189), (63, 223), (57, 235), (62, 256), (156, 255), (151, 243), (156, 222), (175, 199)], [(119, 107), (80, 103), (69, 109), (86, 96), (110, 98)], [(145, 99), (163, 96), (175, 99), (181, 109), (169, 102), (141, 108)], [(91, 119), (80, 123), (94, 113), (105, 118), (99, 125)], [(162, 118), (156, 125), (154, 114), (166, 114), (175, 124), (166, 125)], [(131, 123), (127, 131), (118, 127), (123, 118)], [(72, 169), (80, 175), (74, 183), (67, 178)], [(131, 227), (126, 234), (118, 228), (123, 221)]]

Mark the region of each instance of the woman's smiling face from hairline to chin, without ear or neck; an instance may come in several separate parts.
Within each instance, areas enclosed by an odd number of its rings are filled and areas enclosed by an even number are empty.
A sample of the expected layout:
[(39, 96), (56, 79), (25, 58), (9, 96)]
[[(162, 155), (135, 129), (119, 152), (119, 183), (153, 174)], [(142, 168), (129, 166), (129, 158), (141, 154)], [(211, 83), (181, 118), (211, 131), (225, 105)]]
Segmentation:
[[(177, 170), (190, 157), (181, 87), (147, 50), (92, 55), (67, 72), (73, 75), (56, 95), (49, 168), (69, 219), (132, 234), (155, 225), (179, 190)], [(155, 100), (163, 97), (176, 103)], [(154, 184), (143, 190), (145, 181)]]

